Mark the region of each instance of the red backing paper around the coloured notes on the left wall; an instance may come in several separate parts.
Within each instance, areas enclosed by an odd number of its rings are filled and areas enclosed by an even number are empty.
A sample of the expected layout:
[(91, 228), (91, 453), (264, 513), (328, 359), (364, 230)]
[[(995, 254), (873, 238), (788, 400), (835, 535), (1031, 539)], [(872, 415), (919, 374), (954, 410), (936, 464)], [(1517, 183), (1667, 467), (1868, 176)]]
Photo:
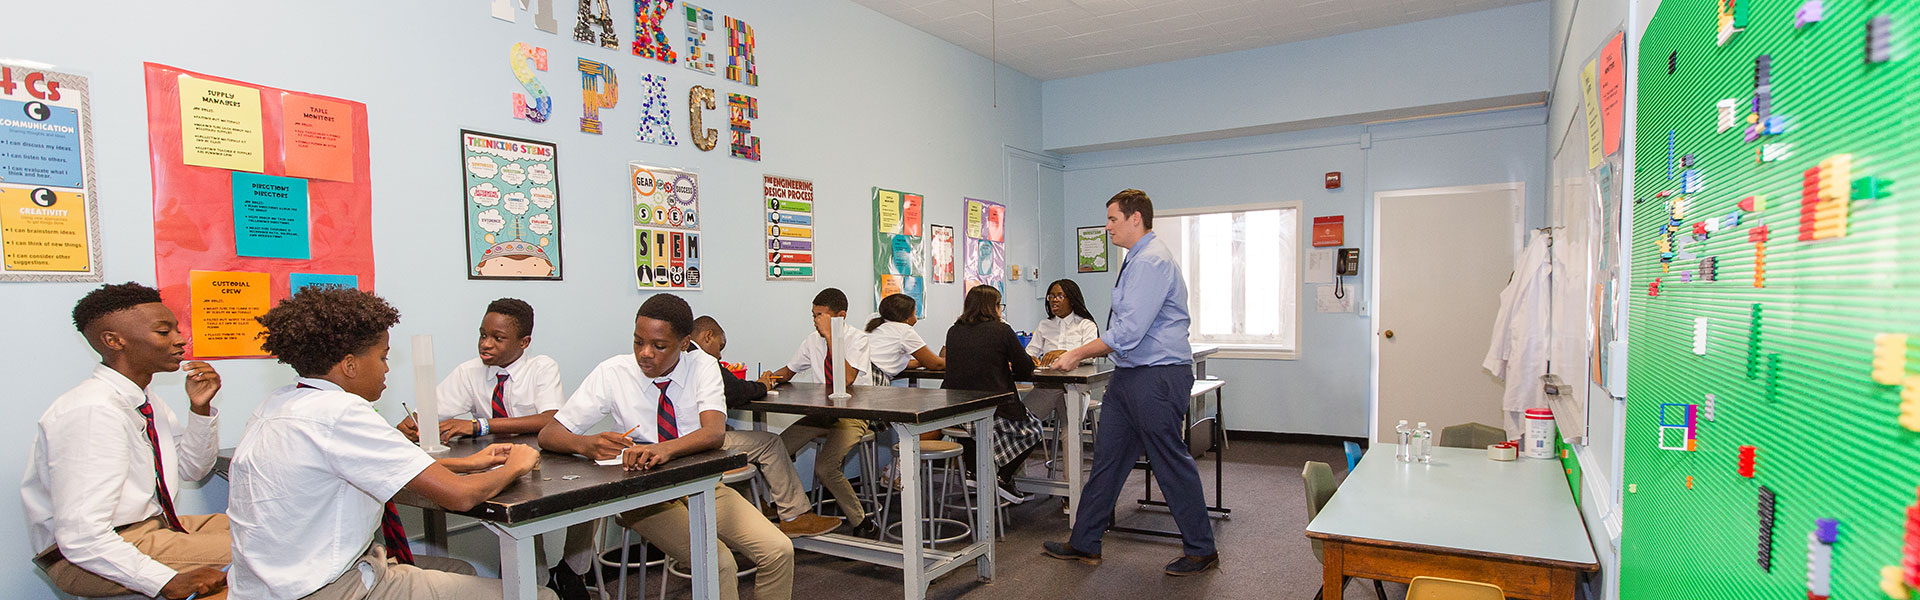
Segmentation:
[[(286, 106), (296, 100), (328, 100), (351, 113), (351, 181), (307, 179), (309, 260), (252, 258), (234, 254), (234, 196), (228, 169), (186, 165), (180, 148), (180, 77), (257, 88), (261, 94), (263, 173), (288, 177)], [(146, 63), (148, 152), (154, 163), (154, 279), (159, 296), (182, 323), (192, 323), (188, 271), (269, 273), (273, 302), (290, 294), (290, 273), (353, 275), (372, 290), (372, 167), (367, 152), (367, 106), (340, 98), (301, 94), (234, 79)], [(192, 335), (194, 331), (188, 331)], [(238, 358), (196, 354), (188, 358)], [(265, 358), (265, 356), (250, 356)]]

